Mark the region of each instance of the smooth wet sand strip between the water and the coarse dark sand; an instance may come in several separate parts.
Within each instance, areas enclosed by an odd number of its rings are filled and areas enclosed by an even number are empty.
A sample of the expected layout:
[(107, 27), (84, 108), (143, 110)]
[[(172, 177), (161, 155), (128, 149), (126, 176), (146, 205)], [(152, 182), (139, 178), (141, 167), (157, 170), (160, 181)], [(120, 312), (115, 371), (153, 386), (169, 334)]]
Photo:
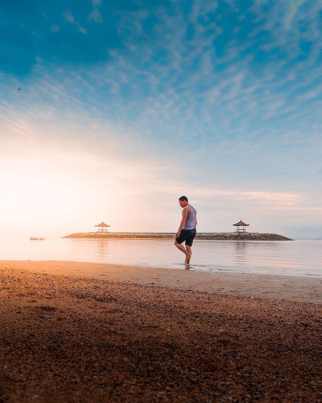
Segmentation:
[(65, 261), (0, 260), (0, 268), (64, 276), (85, 276), (178, 290), (191, 289), (216, 295), (322, 303), (322, 282), (318, 276), (210, 273), (139, 265)]

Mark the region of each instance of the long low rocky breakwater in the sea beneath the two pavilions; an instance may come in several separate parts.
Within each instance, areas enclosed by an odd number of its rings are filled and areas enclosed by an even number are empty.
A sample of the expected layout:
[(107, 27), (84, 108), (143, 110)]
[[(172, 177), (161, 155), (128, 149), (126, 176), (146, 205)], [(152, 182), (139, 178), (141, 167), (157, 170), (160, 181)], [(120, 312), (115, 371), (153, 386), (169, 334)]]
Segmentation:
[[(175, 239), (174, 233), (148, 233), (148, 232), (81, 232), (67, 235), (63, 238), (80, 239)], [(195, 239), (205, 241), (292, 241), (292, 239), (278, 234), (261, 234), (257, 232), (234, 233), (197, 233)]]

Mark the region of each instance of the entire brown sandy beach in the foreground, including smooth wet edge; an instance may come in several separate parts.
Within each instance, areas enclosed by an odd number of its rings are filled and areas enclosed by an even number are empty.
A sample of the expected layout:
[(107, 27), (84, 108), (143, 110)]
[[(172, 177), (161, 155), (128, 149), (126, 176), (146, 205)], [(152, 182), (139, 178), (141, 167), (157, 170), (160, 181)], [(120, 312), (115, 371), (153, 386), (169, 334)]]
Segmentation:
[(321, 401), (319, 278), (0, 262), (0, 401)]

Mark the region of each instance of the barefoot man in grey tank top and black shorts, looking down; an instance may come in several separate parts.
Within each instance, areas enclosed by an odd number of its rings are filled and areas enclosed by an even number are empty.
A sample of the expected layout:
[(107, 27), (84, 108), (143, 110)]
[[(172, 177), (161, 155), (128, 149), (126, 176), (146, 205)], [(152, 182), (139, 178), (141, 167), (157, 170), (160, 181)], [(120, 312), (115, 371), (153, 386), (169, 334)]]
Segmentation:
[[(192, 255), (191, 246), (193, 243), (193, 239), (197, 233), (197, 212), (192, 206), (190, 206), (186, 196), (180, 197), (179, 204), (183, 210), (182, 220), (176, 233), (175, 245), (178, 249), (181, 250), (181, 252), (185, 254), (185, 264), (190, 264), (190, 259)], [(181, 245), (183, 241), (185, 241), (186, 247)]]

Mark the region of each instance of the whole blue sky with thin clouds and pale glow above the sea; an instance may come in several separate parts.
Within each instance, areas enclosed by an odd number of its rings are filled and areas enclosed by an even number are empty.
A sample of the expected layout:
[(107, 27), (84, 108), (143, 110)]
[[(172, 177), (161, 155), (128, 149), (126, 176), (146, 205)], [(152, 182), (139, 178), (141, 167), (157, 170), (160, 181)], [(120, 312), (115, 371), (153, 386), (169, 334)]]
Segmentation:
[(322, 0), (1, 8), (0, 236), (322, 238)]

